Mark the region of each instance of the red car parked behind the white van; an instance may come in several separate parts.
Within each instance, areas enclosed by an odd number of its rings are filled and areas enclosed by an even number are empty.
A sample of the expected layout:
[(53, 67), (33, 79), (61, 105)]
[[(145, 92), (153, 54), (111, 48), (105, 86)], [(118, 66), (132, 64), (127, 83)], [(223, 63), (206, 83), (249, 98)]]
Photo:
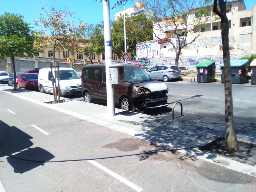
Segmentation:
[(38, 89), (38, 73), (22, 73), (17, 80), (18, 88)]

